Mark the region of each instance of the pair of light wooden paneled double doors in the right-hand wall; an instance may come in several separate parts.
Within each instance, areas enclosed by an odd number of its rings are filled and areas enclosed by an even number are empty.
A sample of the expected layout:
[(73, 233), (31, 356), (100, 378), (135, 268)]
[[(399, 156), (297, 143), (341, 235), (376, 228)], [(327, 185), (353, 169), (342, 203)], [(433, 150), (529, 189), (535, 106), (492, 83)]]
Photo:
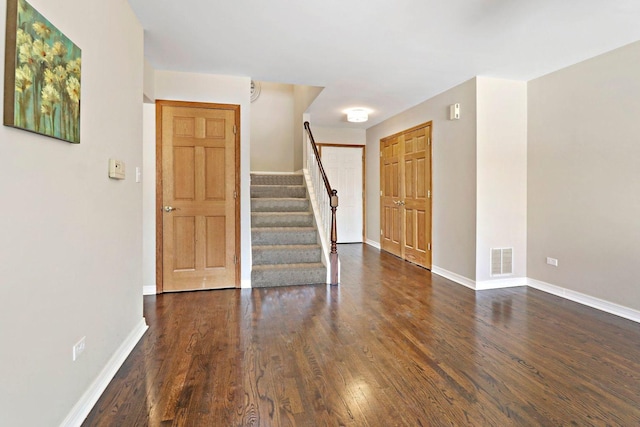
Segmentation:
[(431, 124), (380, 141), (381, 246), (431, 268)]

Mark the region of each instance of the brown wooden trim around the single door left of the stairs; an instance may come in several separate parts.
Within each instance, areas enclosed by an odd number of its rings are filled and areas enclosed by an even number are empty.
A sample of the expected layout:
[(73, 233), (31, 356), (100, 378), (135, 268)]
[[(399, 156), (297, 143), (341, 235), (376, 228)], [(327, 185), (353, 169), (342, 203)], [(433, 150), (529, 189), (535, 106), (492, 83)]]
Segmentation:
[(240, 287), (240, 105), (235, 104), (213, 104), (208, 102), (172, 101), (156, 100), (156, 294), (164, 292), (163, 288), (163, 259), (162, 259), (162, 107), (189, 107), (207, 108), (211, 110), (232, 110), (236, 124), (235, 133), (235, 251), (237, 262), (235, 287)]

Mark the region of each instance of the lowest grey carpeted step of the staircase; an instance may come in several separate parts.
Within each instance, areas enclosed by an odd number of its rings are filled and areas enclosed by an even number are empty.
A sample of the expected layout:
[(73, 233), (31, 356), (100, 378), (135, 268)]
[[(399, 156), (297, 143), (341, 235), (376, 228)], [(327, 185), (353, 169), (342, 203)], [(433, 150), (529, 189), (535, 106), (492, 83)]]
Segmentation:
[(325, 284), (327, 269), (322, 263), (254, 265), (251, 286), (268, 288), (275, 286)]

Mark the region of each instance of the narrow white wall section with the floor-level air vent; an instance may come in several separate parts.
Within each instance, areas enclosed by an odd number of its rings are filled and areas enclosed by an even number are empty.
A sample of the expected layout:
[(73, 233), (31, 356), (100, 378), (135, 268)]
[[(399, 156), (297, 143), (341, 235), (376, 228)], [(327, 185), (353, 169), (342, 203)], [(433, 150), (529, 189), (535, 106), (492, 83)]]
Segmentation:
[[(491, 280), (522, 285), (513, 278), (527, 277), (527, 83), (476, 82), (476, 286)], [(513, 275), (491, 276), (491, 248), (513, 248)]]

